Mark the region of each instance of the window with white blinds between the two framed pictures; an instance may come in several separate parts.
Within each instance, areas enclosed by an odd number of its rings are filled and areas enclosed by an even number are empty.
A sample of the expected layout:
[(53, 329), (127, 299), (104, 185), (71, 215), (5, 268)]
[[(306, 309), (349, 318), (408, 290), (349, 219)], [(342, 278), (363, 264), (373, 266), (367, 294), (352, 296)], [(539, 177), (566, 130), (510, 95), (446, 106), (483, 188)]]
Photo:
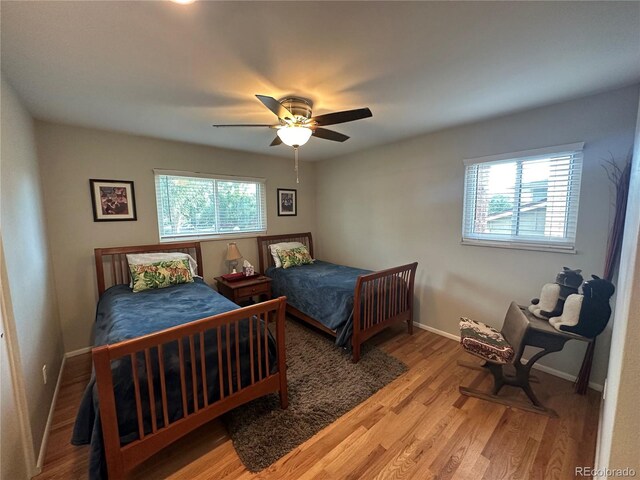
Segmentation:
[(265, 180), (154, 170), (161, 241), (267, 230)]

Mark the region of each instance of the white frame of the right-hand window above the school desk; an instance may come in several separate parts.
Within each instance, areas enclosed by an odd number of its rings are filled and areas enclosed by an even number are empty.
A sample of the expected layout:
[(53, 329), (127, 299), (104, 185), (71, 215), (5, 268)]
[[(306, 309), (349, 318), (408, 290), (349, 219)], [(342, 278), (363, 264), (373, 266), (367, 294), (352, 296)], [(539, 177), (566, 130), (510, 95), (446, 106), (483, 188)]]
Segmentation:
[[(583, 150), (584, 142), (571, 143), (566, 145), (556, 145), (552, 147), (538, 148), (533, 150), (524, 150), (519, 152), (504, 153), (499, 155), (489, 155), (485, 157), (470, 158), (464, 160), (464, 194), (463, 194), (463, 212), (462, 212), (462, 245), (483, 246), (483, 247), (496, 247), (496, 248), (511, 248), (519, 250), (538, 250), (546, 252), (558, 252), (558, 253), (576, 253), (576, 237), (578, 230), (578, 214), (580, 203), (580, 189), (582, 185), (582, 171), (583, 171)], [(575, 217), (575, 234), (573, 237), (568, 237), (568, 229), (570, 224), (569, 220), (564, 222), (564, 236), (562, 241), (550, 241), (547, 238), (539, 238), (533, 235), (517, 235), (517, 229), (522, 215), (522, 168), (523, 164), (527, 161), (536, 161), (545, 157), (554, 157), (562, 154), (572, 155), (570, 162), (569, 174), (567, 177), (571, 179), (576, 175), (579, 177), (578, 182), (573, 180), (569, 181), (567, 191), (567, 211), (568, 216), (573, 215)], [(500, 234), (473, 234), (469, 233), (469, 225), (473, 225), (476, 215), (476, 198), (478, 192), (477, 176), (475, 178), (476, 185), (470, 187), (469, 182), (472, 181), (469, 178), (470, 167), (477, 166), (484, 163), (510, 163), (516, 164), (516, 178), (514, 194), (516, 201), (514, 205), (518, 205), (518, 208), (514, 208), (514, 214), (512, 215), (512, 225), (515, 225), (515, 234), (509, 235), (508, 238), (502, 238)], [(576, 170), (578, 169), (578, 170)], [(518, 173), (519, 172), (519, 173)], [(471, 196), (469, 196), (471, 195)], [(471, 216), (471, 217), (469, 217)], [(471, 227), (472, 228), (472, 227)]]

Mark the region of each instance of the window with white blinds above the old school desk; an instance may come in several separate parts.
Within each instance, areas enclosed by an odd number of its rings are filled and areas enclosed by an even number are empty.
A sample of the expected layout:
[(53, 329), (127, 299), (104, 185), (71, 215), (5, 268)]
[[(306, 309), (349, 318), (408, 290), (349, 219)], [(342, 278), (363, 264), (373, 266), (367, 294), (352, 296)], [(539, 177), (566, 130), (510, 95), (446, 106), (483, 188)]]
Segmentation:
[(583, 146), (465, 160), (463, 243), (573, 251)]

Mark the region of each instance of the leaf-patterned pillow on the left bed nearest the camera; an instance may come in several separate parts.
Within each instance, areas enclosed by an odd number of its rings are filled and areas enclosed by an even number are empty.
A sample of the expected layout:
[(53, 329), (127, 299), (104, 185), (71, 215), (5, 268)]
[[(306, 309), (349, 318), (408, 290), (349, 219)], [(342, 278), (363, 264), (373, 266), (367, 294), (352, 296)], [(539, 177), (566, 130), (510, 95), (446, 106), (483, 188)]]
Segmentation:
[(134, 292), (193, 282), (187, 259), (129, 265), (129, 271)]

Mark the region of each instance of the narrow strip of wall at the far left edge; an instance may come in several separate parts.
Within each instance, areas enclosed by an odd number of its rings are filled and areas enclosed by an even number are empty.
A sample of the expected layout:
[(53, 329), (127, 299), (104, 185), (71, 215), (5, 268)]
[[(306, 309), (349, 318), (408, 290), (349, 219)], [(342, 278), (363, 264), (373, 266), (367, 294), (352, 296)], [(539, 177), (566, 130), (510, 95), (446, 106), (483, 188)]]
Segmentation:
[[(14, 352), (21, 367), (33, 448), (38, 452), (64, 350), (33, 121), (4, 79), (0, 131), (0, 228), (8, 276), (2, 294), (5, 306), (11, 309), (7, 317), (14, 323)], [(42, 379), (45, 364), (46, 385)], [(13, 440), (3, 435), (5, 441)]]

